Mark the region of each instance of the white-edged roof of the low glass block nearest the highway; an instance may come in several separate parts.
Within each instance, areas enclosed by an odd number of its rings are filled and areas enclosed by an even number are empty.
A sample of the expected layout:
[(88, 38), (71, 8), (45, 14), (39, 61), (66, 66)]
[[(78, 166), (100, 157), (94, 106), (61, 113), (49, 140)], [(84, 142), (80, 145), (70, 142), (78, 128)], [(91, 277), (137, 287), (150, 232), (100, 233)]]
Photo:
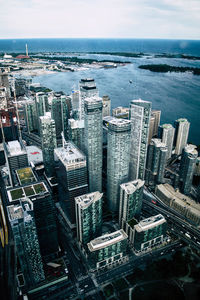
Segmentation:
[(165, 218), (161, 214), (159, 214), (159, 215), (152, 216), (150, 218), (140, 221), (134, 227), (137, 232), (141, 232), (141, 231), (145, 231), (148, 229), (152, 229), (153, 227), (161, 225), (165, 222), (166, 222)]

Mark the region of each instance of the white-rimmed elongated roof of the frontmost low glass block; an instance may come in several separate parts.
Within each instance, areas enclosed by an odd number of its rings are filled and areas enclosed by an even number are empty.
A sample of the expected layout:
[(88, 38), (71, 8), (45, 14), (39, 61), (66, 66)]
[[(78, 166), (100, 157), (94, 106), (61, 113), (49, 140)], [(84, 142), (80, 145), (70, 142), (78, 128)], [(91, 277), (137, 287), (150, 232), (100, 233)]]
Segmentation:
[(111, 246), (120, 241), (127, 239), (128, 236), (123, 229), (117, 230), (115, 232), (104, 234), (88, 243), (88, 248), (91, 252)]

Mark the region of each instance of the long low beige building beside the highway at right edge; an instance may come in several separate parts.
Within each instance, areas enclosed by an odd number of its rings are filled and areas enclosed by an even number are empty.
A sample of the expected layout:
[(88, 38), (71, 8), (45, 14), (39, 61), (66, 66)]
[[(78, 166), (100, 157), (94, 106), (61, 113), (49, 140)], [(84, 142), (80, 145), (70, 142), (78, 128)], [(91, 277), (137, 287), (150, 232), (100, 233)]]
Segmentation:
[(200, 225), (200, 205), (188, 196), (181, 194), (169, 184), (159, 184), (155, 191), (165, 204), (182, 214), (191, 223)]

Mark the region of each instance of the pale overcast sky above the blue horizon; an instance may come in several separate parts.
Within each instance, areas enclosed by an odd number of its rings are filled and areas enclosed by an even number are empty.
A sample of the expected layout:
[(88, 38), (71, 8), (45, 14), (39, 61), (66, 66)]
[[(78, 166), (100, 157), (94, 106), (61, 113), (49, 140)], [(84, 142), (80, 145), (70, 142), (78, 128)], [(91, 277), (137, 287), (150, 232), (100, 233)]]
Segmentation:
[(0, 38), (200, 39), (200, 0), (0, 0)]

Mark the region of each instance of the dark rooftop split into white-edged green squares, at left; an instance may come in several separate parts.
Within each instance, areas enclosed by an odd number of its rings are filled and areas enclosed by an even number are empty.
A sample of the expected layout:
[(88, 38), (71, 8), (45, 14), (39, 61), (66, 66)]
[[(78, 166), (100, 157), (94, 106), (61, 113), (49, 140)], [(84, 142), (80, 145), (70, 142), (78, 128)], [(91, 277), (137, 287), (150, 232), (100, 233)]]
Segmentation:
[(7, 190), (9, 202), (17, 201), (27, 197), (34, 197), (47, 192), (48, 190), (44, 182)]

